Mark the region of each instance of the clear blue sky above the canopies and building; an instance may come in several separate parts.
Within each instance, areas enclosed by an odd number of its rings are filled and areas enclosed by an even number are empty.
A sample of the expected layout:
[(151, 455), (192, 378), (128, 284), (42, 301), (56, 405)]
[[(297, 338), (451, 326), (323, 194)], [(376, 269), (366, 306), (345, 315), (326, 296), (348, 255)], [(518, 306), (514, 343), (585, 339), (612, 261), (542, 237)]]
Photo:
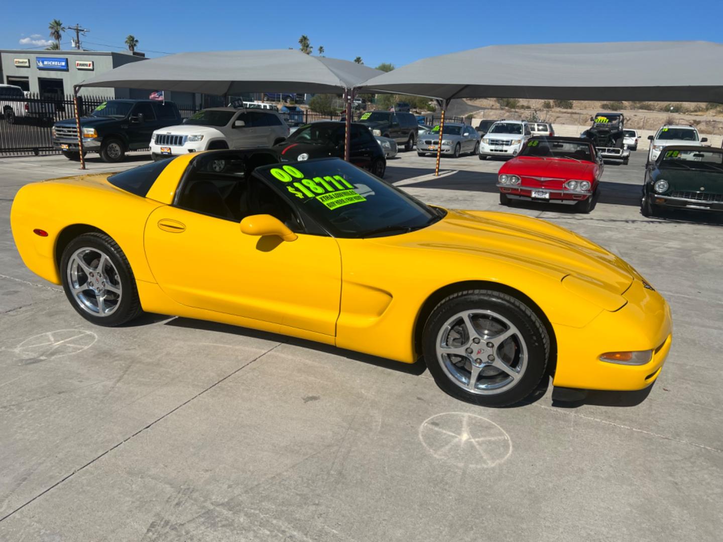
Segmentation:
[[(609, 8), (604, 8), (604, 5)], [(302, 8), (303, 7), (303, 8)], [(348, 14), (343, 12), (348, 9)], [(723, 42), (723, 0), (476, 1), (7, 1), (0, 48), (48, 40), (48, 22), (91, 30), (84, 46), (117, 51), (128, 34), (148, 56), (184, 51), (298, 48), (402, 66), (436, 54), (502, 43), (708, 40)], [(348, 20), (347, 20), (348, 19)], [(70, 35), (64, 38), (70, 47)], [(114, 46), (114, 47), (110, 47)], [(150, 52), (156, 51), (156, 52)]]

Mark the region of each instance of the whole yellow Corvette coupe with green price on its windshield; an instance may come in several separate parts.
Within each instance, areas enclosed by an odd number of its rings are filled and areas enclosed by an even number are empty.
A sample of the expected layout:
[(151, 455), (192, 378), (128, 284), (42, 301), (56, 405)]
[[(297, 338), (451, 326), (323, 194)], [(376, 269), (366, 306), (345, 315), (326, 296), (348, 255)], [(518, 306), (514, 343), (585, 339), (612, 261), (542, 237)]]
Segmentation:
[(22, 187), (23, 261), (74, 309), (283, 333), (414, 363), (471, 403), (553, 384), (641, 390), (672, 339), (664, 298), (557, 225), (424, 205), (337, 158), (223, 150)]

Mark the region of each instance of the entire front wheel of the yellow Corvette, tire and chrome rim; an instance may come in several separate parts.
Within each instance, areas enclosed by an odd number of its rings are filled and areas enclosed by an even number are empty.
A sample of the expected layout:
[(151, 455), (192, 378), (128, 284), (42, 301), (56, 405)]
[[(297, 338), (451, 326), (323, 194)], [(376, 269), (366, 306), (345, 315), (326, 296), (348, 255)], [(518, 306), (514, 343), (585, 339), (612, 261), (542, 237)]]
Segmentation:
[(424, 326), (424, 359), (453, 397), (491, 407), (518, 403), (535, 390), (549, 359), (549, 336), (517, 298), (492, 290), (454, 293)]

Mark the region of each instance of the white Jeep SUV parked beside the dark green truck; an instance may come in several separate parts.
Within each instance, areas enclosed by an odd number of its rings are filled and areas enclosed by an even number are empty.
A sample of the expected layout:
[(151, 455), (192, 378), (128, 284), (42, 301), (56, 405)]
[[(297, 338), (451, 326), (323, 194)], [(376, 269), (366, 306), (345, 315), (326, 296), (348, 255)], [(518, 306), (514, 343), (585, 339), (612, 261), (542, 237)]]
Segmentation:
[(153, 132), (150, 152), (158, 160), (202, 150), (273, 147), (286, 137), (288, 126), (276, 111), (216, 107)]

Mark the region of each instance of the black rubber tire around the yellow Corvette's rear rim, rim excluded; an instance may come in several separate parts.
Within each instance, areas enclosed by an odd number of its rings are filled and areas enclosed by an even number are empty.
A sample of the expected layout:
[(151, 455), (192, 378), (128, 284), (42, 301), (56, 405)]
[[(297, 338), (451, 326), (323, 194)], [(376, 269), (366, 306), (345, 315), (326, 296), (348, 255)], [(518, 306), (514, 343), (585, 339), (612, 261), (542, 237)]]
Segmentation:
[[(118, 247), (118, 249), (114, 248), (114, 246), (112, 246), (106, 239), (110, 238), (100, 234), (86, 233), (70, 241), (63, 250), (63, 254), (61, 256), (60, 274), (63, 291), (65, 292), (65, 296), (68, 298), (68, 301), (70, 301), (73, 309), (75, 309), (75, 311), (88, 322), (92, 322), (93, 324), (100, 326), (113, 327), (124, 324), (130, 319), (136, 317), (140, 312), (140, 303), (138, 301), (135, 278), (125, 254), (123, 254), (120, 247)], [(111, 262), (113, 262), (116, 270), (118, 271), (118, 276), (121, 281), (121, 303), (118, 309), (116, 309), (116, 311), (110, 316), (97, 317), (85, 311), (78, 305), (78, 301), (70, 291), (70, 285), (68, 283), (68, 262), (74, 251), (84, 246), (102, 251), (108, 256), (108, 258), (111, 259)]]

